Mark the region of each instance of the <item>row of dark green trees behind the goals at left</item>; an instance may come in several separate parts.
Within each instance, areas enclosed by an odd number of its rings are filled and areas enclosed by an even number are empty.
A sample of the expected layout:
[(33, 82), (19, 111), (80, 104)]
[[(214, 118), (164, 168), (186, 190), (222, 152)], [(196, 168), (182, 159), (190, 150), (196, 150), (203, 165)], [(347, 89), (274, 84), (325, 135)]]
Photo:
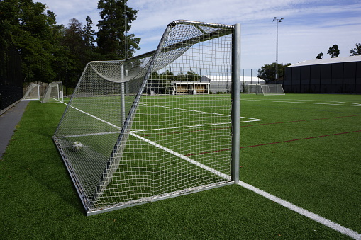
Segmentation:
[[(82, 72), (91, 60), (132, 57), (140, 38), (127, 34), (138, 10), (128, 0), (99, 0), (101, 20), (89, 16), (58, 25), (56, 15), (45, 4), (33, 0), (0, 1), (0, 44), (14, 46), (21, 56), (23, 81), (68, 81), (70, 73)], [(1, 61), (6, 59), (1, 59)], [(68, 79), (66, 79), (68, 78)]]

